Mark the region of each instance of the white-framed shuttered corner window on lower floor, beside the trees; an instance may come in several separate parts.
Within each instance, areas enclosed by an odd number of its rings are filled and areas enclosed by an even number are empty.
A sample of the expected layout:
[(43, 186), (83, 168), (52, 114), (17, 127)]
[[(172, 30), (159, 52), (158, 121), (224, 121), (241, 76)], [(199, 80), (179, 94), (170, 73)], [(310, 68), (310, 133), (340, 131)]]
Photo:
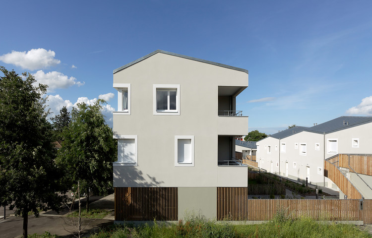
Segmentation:
[(118, 139), (118, 161), (114, 166), (137, 166), (137, 135), (114, 135)]

